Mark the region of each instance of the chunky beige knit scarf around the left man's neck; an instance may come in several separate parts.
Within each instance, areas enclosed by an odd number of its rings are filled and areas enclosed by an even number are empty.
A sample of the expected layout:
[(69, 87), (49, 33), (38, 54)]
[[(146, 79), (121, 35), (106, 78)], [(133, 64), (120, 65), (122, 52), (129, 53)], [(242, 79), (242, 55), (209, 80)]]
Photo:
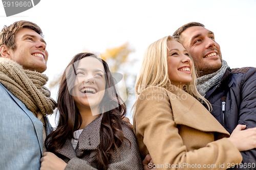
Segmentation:
[(52, 114), (56, 102), (50, 98), (50, 90), (44, 85), (48, 77), (36, 71), (23, 69), (11, 59), (0, 57), (0, 83), (22, 101), (39, 119)]

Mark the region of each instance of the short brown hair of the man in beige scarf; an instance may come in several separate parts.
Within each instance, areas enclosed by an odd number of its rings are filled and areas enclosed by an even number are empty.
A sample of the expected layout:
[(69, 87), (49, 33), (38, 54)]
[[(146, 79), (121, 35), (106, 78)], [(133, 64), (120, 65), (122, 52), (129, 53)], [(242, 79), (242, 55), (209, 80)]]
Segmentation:
[(20, 20), (12, 23), (8, 27), (4, 26), (0, 32), (0, 46), (4, 44), (7, 47), (10, 47), (12, 50), (15, 50), (15, 35), (19, 30), (23, 28), (31, 29), (43, 37), (41, 29), (35, 23), (26, 20)]

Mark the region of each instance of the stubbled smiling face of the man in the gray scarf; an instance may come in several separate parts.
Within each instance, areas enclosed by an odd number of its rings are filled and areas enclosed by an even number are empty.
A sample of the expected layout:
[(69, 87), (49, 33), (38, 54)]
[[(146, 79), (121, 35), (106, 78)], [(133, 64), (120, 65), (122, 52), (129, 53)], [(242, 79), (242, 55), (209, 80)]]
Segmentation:
[(183, 46), (194, 60), (199, 76), (217, 71), (222, 66), (220, 45), (214, 33), (204, 27), (189, 27), (180, 35)]

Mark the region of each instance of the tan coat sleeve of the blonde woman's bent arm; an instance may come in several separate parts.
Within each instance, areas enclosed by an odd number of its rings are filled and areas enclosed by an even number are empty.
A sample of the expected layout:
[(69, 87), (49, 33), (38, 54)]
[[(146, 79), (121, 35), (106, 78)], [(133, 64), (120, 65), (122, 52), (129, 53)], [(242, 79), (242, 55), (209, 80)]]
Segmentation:
[(162, 88), (142, 91), (137, 99), (134, 120), (136, 137), (143, 137), (143, 143), (159, 169), (226, 169), (232, 162), (241, 162), (240, 152), (227, 138), (210, 142), (198, 150), (186, 151), (167, 92)]

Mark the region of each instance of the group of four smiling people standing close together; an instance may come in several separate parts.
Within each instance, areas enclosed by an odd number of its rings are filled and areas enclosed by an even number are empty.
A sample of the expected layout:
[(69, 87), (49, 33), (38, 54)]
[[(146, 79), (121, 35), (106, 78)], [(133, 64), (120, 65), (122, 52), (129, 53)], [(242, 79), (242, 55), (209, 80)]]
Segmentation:
[[(230, 69), (201, 23), (148, 46), (133, 129), (108, 64), (97, 55), (73, 57), (57, 103), (45, 87), (48, 52), (35, 23), (5, 26), (0, 55), (1, 169), (256, 166), (256, 68)], [(56, 107), (52, 130), (46, 115)]]

